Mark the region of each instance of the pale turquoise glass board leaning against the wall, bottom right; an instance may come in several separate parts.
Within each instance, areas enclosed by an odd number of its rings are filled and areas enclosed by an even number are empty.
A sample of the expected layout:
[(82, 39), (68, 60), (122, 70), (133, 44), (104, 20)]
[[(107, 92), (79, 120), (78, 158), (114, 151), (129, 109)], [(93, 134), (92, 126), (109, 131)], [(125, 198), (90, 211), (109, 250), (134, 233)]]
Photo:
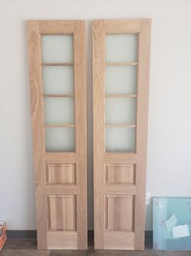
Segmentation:
[(154, 249), (191, 250), (190, 215), (191, 197), (153, 197)]

